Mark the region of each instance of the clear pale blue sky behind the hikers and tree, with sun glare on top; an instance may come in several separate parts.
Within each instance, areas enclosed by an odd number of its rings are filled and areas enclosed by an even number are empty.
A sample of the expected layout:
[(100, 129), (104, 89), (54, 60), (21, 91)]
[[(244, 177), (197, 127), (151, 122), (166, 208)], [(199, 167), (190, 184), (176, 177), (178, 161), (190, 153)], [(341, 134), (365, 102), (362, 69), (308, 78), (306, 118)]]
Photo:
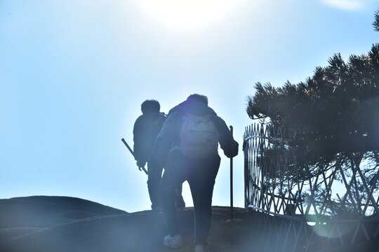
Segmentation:
[[(241, 146), (254, 83), (298, 83), (335, 52), (368, 52), (378, 8), (377, 0), (0, 0), (0, 198), (149, 209), (147, 178), (120, 141), (132, 144), (145, 99), (168, 112), (206, 94)], [(243, 176), (240, 148), (237, 207)], [(192, 205), (187, 184), (183, 194)], [(228, 204), (222, 156), (213, 205)]]

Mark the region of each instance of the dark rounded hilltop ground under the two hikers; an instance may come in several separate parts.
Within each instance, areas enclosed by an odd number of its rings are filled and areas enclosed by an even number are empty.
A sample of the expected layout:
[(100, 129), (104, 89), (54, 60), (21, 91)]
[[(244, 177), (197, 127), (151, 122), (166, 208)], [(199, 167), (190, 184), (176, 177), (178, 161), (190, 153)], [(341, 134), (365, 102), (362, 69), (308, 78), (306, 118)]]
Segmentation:
[[(166, 248), (161, 213), (126, 213), (71, 197), (22, 197), (0, 200), (1, 252), (189, 252), (193, 251), (193, 209), (178, 209), (185, 247)], [(211, 252), (272, 251), (263, 241), (256, 214), (213, 207)], [(272, 247), (275, 241), (272, 241)], [(359, 248), (359, 247), (357, 247)], [(355, 249), (355, 248), (354, 248)], [(280, 251), (280, 250), (279, 250)], [(356, 251), (356, 250), (352, 250)], [(359, 250), (362, 251), (362, 250)]]

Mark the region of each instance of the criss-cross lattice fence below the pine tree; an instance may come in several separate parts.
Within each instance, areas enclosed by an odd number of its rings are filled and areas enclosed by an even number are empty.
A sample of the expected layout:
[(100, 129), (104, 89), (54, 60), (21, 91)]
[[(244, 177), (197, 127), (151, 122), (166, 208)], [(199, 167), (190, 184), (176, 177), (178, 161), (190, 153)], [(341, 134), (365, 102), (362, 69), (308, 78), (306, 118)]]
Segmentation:
[(261, 213), (267, 251), (377, 246), (378, 152), (300, 164), (291, 139), (288, 128), (261, 123), (244, 134), (245, 207)]

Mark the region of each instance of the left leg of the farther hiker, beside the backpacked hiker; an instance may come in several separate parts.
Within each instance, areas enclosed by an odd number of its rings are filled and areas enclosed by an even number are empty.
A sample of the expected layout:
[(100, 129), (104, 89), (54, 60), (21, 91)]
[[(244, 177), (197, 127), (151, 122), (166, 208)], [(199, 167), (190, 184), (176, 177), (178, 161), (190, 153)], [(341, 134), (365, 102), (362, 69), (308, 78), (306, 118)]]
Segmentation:
[(152, 209), (157, 209), (161, 206), (159, 202), (159, 183), (161, 182), (163, 167), (147, 163), (147, 190), (149, 190)]

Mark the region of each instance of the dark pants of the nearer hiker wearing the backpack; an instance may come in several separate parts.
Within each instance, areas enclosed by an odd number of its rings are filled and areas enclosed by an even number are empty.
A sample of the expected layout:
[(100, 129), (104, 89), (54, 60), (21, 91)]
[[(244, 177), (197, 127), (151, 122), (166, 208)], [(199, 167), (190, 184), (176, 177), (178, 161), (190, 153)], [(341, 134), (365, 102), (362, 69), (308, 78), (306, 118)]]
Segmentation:
[(213, 186), (219, 167), (219, 155), (206, 160), (193, 160), (186, 158), (180, 151), (174, 151), (168, 157), (164, 176), (161, 179), (159, 197), (168, 233), (171, 236), (179, 233), (175, 188), (188, 181), (194, 202), (195, 244), (206, 246), (211, 230)]

